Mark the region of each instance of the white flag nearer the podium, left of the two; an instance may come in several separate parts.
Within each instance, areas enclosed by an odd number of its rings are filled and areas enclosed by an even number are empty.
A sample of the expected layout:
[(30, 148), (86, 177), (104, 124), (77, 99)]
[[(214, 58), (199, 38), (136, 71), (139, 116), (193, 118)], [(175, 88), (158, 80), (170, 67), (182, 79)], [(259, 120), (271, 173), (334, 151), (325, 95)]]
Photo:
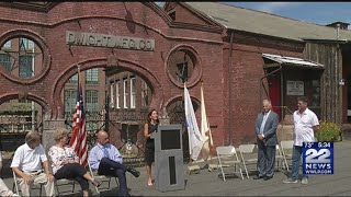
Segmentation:
[(186, 129), (188, 129), (188, 136), (189, 136), (190, 158), (196, 161), (203, 146), (203, 138), (199, 130), (193, 104), (191, 102), (190, 94), (185, 86), (185, 83), (184, 83), (184, 108), (185, 108)]

